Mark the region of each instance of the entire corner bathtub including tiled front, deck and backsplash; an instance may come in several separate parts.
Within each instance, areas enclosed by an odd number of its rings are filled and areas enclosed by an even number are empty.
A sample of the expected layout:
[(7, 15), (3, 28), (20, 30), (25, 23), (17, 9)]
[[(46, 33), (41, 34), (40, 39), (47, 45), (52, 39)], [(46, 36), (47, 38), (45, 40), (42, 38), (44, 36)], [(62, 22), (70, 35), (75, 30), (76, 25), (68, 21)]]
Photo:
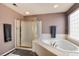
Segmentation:
[(50, 34), (42, 34), (39, 39), (33, 41), (33, 51), (44, 56), (50, 56), (50, 54), (52, 56), (53, 54), (56, 56), (79, 56), (79, 47), (65, 38), (65, 34), (57, 34), (55, 39), (52, 39)]

